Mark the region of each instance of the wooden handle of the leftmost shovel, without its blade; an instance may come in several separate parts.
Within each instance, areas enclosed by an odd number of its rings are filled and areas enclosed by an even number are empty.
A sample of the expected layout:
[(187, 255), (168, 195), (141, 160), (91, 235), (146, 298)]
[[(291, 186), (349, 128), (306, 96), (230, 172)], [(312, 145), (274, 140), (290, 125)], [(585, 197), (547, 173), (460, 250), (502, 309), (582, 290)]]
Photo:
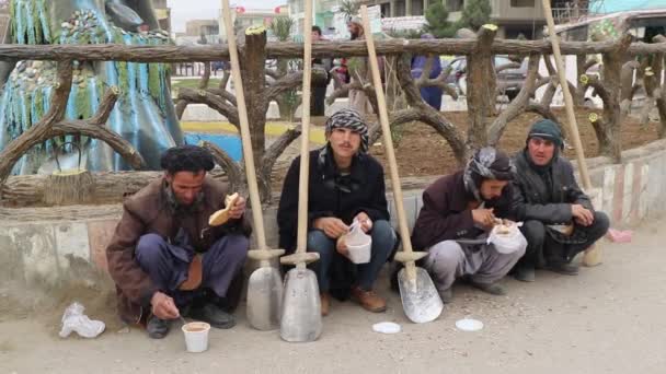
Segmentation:
[(259, 184), (256, 183), (256, 170), (254, 167), (254, 154), (252, 152), (252, 141), (250, 140), (250, 124), (248, 120), (248, 107), (245, 105), (245, 94), (241, 78), (241, 67), (236, 45), (233, 24), (231, 23), (231, 10), (229, 0), (222, 0), (222, 16), (225, 17), (225, 28), (229, 45), (229, 59), (231, 61), (231, 77), (236, 89), (236, 101), (238, 117), (240, 121), (241, 141), (243, 144), (243, 160), (245, 161), (245, 175), (248, 176), (248, 189), (250, 190), (250, 206), (252, 208), (252, 220), (254, 233), (260, 249), (266, 247), (266, 232), (264, 230), (264, 219), (262, 214), (262, 201), (259, 197)]

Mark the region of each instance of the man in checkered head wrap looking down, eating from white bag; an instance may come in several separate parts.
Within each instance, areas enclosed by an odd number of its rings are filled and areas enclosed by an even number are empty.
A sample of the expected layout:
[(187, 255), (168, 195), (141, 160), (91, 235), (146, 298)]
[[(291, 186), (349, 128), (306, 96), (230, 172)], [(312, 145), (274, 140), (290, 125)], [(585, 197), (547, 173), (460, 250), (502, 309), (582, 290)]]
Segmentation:
[(451, 285), (461, 277), (487, 293), (506, 293), (496, 282), (523, 257), (525, 247), (501, 254), (486, 239), (496, 218), (513, 219), (513, 174), (504, 152), (483, 148), (464, 171), (437, 179), (423, 192), (412, 241), (428, 250), (424, 265), (445, 303), (452, 300)]

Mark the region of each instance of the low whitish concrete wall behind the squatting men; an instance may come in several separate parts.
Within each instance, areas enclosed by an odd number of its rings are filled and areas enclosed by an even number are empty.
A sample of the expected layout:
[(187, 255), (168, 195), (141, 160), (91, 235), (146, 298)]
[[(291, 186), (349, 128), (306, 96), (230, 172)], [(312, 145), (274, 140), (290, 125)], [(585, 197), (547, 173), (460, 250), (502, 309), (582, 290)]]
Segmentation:
[[(666, 212), (661, 197), (666, 184), (666, 140), (623, 152), (622, 164), (606, 157), (588, 160), (597, 209), (609, 213), (615, 227), (633, 226), (644, 219)], [(418, 214), (422, 189), (404, 191), (404, 207), (410, 227)], [(392, 196), (388, 196), (395, 225)], [(51, 214), (58, 219), (35, 221), (35, 210), (0, 209), (0, 281), (57, 283), (79, 271), (81, 264), (106, 269), (105, 247), (111, 239), (120, 209), (100, 217), (99, 207), (77, 207), (73, 213)], [(43, 210), (46, 217), (47, 210)], [(277, 247), (276, 208), (265, 210), (268, 244)], [(85, 219), (94, 217), (94, 219)], [(395, 225), (397, 226), (397, 225)]]

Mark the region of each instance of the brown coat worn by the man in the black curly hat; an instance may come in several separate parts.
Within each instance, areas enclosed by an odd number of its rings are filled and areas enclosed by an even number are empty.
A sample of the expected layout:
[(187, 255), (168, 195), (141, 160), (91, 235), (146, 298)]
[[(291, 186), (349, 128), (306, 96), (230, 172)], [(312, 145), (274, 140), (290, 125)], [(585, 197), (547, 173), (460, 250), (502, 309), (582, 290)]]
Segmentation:
[(176, 217), (169, 206), (164, 179), (160, 178), (143, 187), (123, 204), (123, 218), (108, 246), (106, 258), (108, 272), (116, 283), (118, 313), (127, 323), (138, 324), (150, 311), (150, 299), (158, 291), (148, 273), (135, 260), (135, 248), (142, 235), (156, 233), (173, 241), (182, 227), (197, 252), (206, 252), (226, 233), (243, 230), (250, 234), (244, 220), (231, 221), (219, 227), (210, 227), (208, 218), (223, 208), (227, 187), (206, 177), (202, 189), (204, 201), (199, 209)]

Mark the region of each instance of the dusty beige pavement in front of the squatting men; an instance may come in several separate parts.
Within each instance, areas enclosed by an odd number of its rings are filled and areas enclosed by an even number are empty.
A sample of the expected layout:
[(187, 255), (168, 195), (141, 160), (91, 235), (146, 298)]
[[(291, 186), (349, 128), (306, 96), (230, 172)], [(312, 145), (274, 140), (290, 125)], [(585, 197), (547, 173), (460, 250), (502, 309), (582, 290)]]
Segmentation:
[[(605, 243), (605, 264), (582, 269), (578, 277), (540, 271), (536, 283), (506, 279), (509, 294), (502, 297), (457, 285), (453, 304), (429, 324), (410, 323), (397, 294), (390, 294), (386, 314), (334, 302), (321, 338), (312, 343), (287, 343), (277, 331), (252, 329), (243, 305), (237, 327), (211, 331), (210, 350), (202, 354), (184, 352), (177, 324), (164, 340), (150, 340), (138, 329), (61, 340), (55, 326), (5, 319), (0, 372), (663, 373), (664, 223), (648, 223), (631, 244)], [(380, 293), (388, 294), (387, 283), (382, 277)], [(466, 316), (485, 328), (456, 330), (455, 322)], [(371, 325), (382, 320), (399, 323), (403, 331), (372, 332)]]

